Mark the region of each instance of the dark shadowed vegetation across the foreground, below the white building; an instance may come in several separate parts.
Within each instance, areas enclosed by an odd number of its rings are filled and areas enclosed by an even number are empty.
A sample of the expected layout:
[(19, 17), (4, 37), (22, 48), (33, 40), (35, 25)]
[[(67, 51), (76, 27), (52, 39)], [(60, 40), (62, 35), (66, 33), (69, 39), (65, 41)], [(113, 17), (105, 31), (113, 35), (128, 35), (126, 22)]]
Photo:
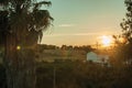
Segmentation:
[[(78, 61), (42, 62), (36, 65), (36, 88), (132, 88), (131, 67)], [(6, 88), (2, 65), (0, 72), (0, 88)]]

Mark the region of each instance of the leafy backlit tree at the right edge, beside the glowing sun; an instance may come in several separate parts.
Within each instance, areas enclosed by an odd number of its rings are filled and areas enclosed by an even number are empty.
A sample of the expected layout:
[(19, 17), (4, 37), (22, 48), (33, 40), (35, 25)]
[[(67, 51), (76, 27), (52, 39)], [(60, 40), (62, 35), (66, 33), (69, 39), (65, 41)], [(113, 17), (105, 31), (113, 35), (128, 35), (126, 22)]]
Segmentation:
[[(116, 38), (116, 47), (112, 54), (113, 59), (120, 64), (132, 64), (132, 1), (124, 0), (127, 7), (125, 18), (123, 22), (120, 23), (122, 29), (122, 34), (119, 36), (113, 36)], [(121, 42), (120, 38), (123, 38)]]

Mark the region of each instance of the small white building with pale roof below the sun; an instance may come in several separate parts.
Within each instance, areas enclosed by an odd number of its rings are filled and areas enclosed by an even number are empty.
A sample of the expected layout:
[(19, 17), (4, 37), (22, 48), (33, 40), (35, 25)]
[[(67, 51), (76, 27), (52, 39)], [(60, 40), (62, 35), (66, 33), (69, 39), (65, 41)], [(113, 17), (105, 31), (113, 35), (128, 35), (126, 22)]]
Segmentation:
[(108, 55), (99, 55), (94, 52), (87, 53), (87, 61), (91, 61), (94, 63), (108, 63)]

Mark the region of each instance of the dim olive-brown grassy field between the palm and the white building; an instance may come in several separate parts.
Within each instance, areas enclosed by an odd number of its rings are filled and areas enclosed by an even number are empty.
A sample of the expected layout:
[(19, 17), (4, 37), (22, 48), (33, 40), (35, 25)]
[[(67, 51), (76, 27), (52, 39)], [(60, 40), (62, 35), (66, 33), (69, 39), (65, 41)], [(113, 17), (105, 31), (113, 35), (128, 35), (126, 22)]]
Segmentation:
[(86, 59), (86, 52), (84, 51), (44, 50), (42, 53), (37, 53), (37, 61), (45, 62), (54, 62), (55, 59)]

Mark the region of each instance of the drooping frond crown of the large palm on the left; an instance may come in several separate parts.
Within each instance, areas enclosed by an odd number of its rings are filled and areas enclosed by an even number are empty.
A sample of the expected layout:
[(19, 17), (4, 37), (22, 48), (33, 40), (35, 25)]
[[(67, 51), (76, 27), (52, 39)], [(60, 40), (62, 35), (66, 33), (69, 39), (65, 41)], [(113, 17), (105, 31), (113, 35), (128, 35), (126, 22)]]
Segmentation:
[(41, 42), (43, 31), (45, 31), (53, 21), (50, 12), (41, 8), (42, 6), (50, 7), (52, 4), (51, 1), (0, 0), (0, 4), (8, 7), (4, 10), (9, 12), (7, 16), (10, 26), (9, 31), (15, 34), (18, 42), (22, 44), (32, 45), (37, 41)]

